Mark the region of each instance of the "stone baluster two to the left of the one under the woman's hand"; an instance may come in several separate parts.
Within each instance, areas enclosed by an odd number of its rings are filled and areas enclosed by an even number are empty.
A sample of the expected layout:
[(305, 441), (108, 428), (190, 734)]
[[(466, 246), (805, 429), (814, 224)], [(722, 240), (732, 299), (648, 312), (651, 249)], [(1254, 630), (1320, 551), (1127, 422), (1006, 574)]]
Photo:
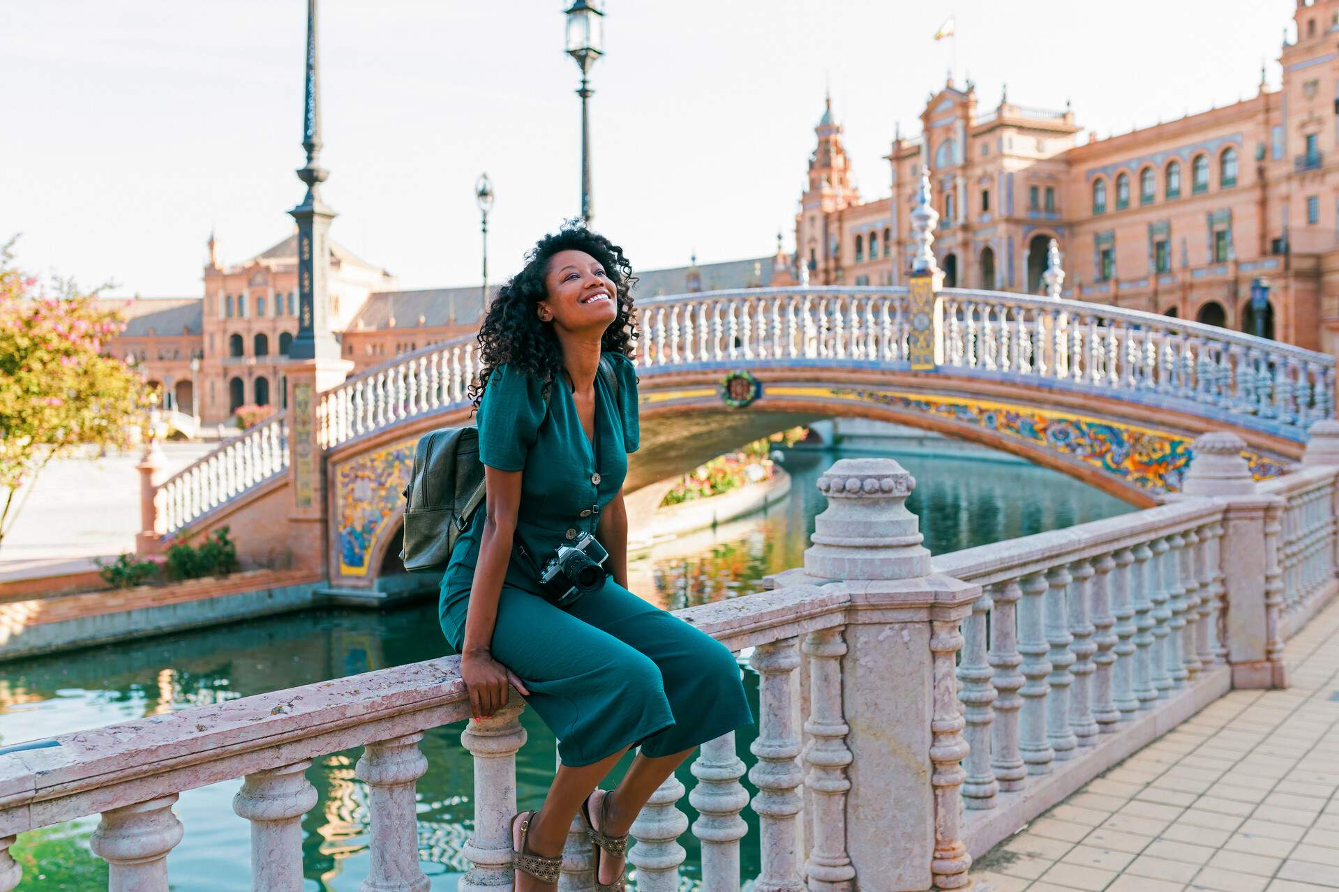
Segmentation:
[(311, 765), (303, 759), (248, 774), (233, 797), (233, 812), (250, 821), (254, 892), (303, 889), (303, 816), (316, 805)]

